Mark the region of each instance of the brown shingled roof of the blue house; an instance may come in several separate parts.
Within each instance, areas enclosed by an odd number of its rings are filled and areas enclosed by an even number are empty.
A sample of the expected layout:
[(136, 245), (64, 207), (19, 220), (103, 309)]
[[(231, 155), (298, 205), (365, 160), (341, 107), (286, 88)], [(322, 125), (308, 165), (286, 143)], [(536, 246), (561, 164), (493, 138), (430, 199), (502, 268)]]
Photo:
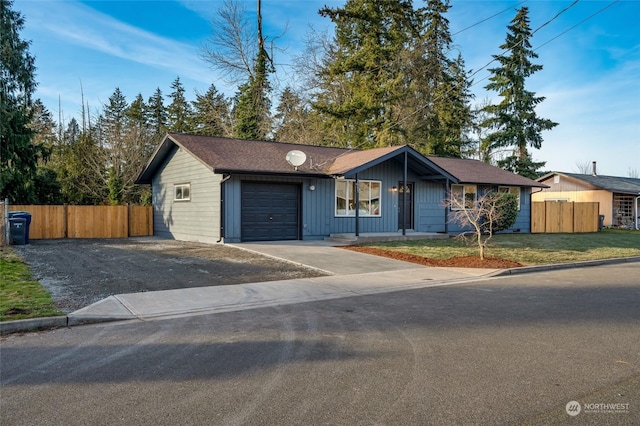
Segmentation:
[[(424, 157), (412, 148), (391, 146), (353, 150), (282, 142), (230, 139), (211, 136), (169, 133), (156, 148), (137, 183), (151, 183), (165, 158), (176, 147), (193, 155), (215, 173), (277, 174), (332, 177), (358, 172), (381, 161), (409, 155), (411, 167), (423, 174), (446, 176), (451, 181), (509, 186), (546, 187), (476, 160)], [(300, 150), (307, 161), (294, 169), (286, 161), (289, 151)]]

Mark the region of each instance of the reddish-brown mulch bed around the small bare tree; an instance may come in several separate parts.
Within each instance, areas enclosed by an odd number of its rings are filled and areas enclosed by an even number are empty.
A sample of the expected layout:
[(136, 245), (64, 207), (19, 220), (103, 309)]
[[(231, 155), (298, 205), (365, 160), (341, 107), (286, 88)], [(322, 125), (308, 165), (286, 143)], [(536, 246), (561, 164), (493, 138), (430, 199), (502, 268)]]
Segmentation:
[(518, 262), (508, 259), (500, 259), (497, 257), (485, 257), (480, 259), (478, 256), (458, 256), (449, 259), (432, 259), (422, 257), (415, 254), (401, 253), (394, 250), (384, 250), (374, 247), (361, 246), (344, 246), (347, 250), (359, 251), (361, 253), (374, 254), (377, 256), (389, 257), (391, 259), (403, 260), (405, 262), (417, 263), (424, 266), (436, 266), (447, 268), (489, 268), (489, 269), (509, 269), (522, 266)]

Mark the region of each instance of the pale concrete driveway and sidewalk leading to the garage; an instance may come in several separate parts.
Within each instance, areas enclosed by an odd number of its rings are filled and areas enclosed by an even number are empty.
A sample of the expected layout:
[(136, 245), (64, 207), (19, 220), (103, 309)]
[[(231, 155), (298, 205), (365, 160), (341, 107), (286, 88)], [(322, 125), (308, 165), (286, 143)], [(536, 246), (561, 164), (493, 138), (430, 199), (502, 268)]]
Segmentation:
[(329, 276), (227, 286), (120, 294), (70, 313), (68, 325), (228, 312), (450, 284), (494, 269), (430, 268), (335, 247), (325, 241), (233, 244), (321, 270)]

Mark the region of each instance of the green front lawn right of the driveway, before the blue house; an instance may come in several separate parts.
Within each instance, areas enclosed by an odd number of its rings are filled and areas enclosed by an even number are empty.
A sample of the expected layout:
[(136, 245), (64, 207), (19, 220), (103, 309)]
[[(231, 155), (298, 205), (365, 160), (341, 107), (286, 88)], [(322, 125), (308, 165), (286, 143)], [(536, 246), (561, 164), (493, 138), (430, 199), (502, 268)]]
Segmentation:
[[(364, 245), (435, 259), (478, 255), (477, 245), (467, 244), (460, 238)], [(640, 256), (640, 231), (605, 229), (589, 234), (499, 234), (489, 241), (485, 256), (527, 266)]]

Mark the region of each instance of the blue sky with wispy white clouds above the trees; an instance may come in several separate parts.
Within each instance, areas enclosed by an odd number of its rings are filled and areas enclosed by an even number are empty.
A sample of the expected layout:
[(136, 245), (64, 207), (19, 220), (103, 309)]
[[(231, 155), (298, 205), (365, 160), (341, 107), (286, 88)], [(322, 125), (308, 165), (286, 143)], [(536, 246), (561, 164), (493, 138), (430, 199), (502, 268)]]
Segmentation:
[[(339, 7), (344, 1), (263, 0), (265, 34), (280, 36), (286, 29), (277, 41), (276, 87), (296, 81), (287, 64), (301, 51), (309, 28), (330, 29), (328, 19), (317, 14), (325, 4)], [(529, 78), (527, 89), (546, 97), (538, 114), (560, 123), (543, 133), (542, 149), (533, 151), (534, 159), (547, 162), (546, 170), (577, 172), (578, 165), (597, 161), (599, 174), (640, 173), (640, 1), (451, 4), (447, 18), (454, 44), (467, 68), (477, 71), (477, 103), (498, 100), (484, 90), (487, 69), (496, 65), (489, 63), (501, 53), (515, 10), (529, 7), (531, 28), (541, 27), (531, 43), (539, 55), (535, 63), (544, 68)], [(16, 0), (13, 9), (26, 20), (22, 37), (31, 40), (36, 57), (36, 97), (56, 119), (60, 115), (68, 122), (80, 118), (82, 92), (94, 112), (116, 87), (129, 102), (138, 93), (146, 100), (158, 87), (168, 95), (178, 76), (190, 99), (212, 83), (233, 94), (235, 88), (199, 54), (221, 5), (221, 0)], [(246, 6), (255, 11), (256, 1)]]

